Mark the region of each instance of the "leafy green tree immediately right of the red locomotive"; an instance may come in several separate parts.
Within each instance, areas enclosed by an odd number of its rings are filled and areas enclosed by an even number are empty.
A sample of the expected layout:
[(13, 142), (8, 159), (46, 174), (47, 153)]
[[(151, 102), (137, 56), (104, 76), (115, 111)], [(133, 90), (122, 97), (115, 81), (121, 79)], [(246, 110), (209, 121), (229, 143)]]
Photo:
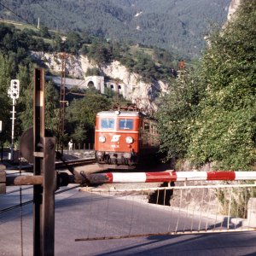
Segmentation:
[(197, 113), (197, 105), (203, 96), (203, 88), (195, 70), (179, 73), (171, 79), (168, 93), (160, 98), (157, 112), (160, 132), (160, 150), (166, 153), (166, 160), (185, 158), (191, 136), (191, 124)]

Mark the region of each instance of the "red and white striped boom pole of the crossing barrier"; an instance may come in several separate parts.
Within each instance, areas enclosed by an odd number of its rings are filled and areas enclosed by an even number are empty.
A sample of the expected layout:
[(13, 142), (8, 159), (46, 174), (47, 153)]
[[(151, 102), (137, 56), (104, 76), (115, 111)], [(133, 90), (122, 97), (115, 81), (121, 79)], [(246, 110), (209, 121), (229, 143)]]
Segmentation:
[(176, 181), (256, 180), (256, 172), (107, 172), (87, 176), (90, 183), (159, 183)]

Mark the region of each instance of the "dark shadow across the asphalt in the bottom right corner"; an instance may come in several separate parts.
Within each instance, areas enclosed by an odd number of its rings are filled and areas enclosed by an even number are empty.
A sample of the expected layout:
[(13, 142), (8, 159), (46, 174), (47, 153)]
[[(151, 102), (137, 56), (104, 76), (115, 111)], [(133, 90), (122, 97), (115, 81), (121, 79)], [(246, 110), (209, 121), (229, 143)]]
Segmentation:
[(229, 236), (227, 234), (148, 236), (147, 240), (148, 242), (143, 241), (101, 255), (256, 255), (255, 236), (248, 232), (233, 233)]

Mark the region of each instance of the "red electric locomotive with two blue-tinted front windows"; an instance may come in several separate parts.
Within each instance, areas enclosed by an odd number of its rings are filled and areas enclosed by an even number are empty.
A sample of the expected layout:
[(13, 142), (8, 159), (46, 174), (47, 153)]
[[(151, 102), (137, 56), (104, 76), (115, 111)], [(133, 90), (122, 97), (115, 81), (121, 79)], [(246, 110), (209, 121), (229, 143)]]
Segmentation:
[(96, 162), (109, 169), (133, 169), (159, 150), (156, 123), (135, 111), (96, 115)]

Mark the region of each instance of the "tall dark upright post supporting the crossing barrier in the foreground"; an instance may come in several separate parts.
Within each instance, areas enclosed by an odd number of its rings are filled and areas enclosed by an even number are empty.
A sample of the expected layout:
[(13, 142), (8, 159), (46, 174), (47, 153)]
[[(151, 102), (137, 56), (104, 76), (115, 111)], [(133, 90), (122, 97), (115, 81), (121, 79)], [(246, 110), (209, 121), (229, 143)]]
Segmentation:
[(44, 69), (34, 71), (33, 155), (34, 176), (43, 175), (43, 184), (34, 185), (34, 256), (54, 255), (55, 230), (55, 139), (44, 134)]

